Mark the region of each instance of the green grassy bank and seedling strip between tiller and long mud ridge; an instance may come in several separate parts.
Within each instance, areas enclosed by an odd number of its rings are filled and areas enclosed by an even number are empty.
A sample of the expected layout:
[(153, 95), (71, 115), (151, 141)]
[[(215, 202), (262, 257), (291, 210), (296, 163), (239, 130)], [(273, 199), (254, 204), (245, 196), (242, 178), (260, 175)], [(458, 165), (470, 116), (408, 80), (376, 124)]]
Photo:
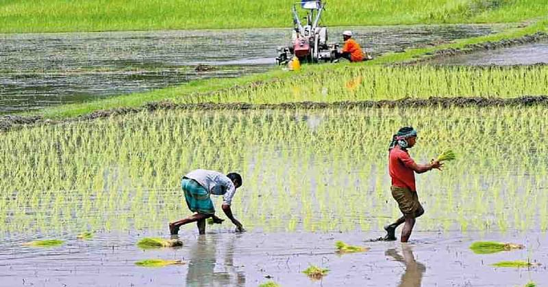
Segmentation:
[[(405, 53), (390, 53), (360, 64), (303, 65), (302, 70), (299, 72), (287, 72), (278, 69), (236, 79), (198, 80), (151, 92), (126, 94), (103, 100), (48, 107), (38, 112), (33, 111), (32, 114), (51, 119), (72, 118), (101, 109), (141, 107), (146, 102), (162, 100), (177, 103), (196, 103), (199, 101), (273, 103), (279, 102), (282, 98), (291, 102), (305, 100), (333, 102), (336, 100), (382, 100), (386, 99), (383, 97), (388, 96), (393, 99), (395, 96), (414, 96), (417, 98), (451, 95), (513, 97), (548, 94), (548, 90), (543, 90), (542, 85), (542, 83), (548, 81), (547, 68), (536, 68), (534, 72), (527, 70), (527, 68), (493, 69), (484, 70), (477, 74), (476, 69), (447, 68), (440, 72), (440, 70), (433, 69), (375, 67), (382, 64), (419, 59), (427, 54), (433, 54), (444, 49), (462, 49), (470, 44), (519, 38), (539, 31), (548, 33), (548, 20), (539, 21), (527, 27), (508, 29), (489, 36), (456, 40), (429, 48), (410, 49)], [(372, 76), (375, 77), (371, 78)], [(299, 79), (295, 79), (297, 77)], [(394, 77), (401, 79), (400, 85), (397, 86), (395, 83), (391, 85), (390, 89), (394, 90), (379, 88), (378, 85), (377, 88), (373, 89), (371, 86), (373, 81), (375, 83), (390, 84), (393, 82), (391, 79), (395, 79)], [(513, 77), (514, 81), (523, 83), (523, 89), (519, 90), (513, 83), (503, 81), (505, 77)], [(302, 81), (301, 79), (307, 80)], [(409, 90), (410, 85), (418, 87), (416, 83), (425, 79), (428, 79), (428, 85), (423, 84), (419, 88)], [(528, 83), (531, 83), (531, 85)], [(540, 85), (537, 85), (538, 83)], [(327, 95), (323, 92), (325, 91), (322, 90), (323, 87), (327, 88)], [(458, 90), (455, 90), (455, 88), (458, 88)], [(285, 92), (285, 94), (282, 94), (282, 92)], [(390, 94), (394, 92), (396, 93)]]

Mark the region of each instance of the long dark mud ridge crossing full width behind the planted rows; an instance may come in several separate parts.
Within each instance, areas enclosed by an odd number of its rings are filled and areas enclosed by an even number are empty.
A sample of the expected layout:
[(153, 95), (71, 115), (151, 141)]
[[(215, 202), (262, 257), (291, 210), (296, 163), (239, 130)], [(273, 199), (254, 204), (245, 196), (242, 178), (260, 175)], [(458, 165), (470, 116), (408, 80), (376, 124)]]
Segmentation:
[(82, 122), (100, 118), (110, 118), (119, 115), (128, 115), (140, 112), (154, 112), (166, 110), (186, 111), (245, 111), (262, 109), (360, 109), (360, 108), (395, 108), (395, 107), (548, 107), (548, 96), (522, 96), (519, 98), (484, 98), (484, 97), (430, 97), (430, 98), (402, 98), (400, 100), (362, 100), (341, 102), (284, 102), (279, 104), (250, 104), (246, 102), (199, 104), (177, 104), (175, 102), (147, 102), (138, 108), (122, 107), (94, 111), (77, 118), (64, 120), (49, 120), (40, 116), (5, 115), (0, 117), (0, 131), (10, 131), (23, 126), (37, 124), (61, 124), (68, 122)]

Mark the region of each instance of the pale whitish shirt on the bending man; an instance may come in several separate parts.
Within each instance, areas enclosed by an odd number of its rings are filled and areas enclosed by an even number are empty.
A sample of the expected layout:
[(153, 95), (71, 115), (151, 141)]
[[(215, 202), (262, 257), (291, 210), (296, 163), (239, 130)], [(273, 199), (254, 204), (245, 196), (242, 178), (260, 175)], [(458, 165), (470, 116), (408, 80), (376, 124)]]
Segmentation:
[(236, 187), (234, 182), (224, 174), (213, 170), (195, 169), (186, 174), (185, 177), (196, 180), (210, 194), (223, 195), (223, 204), (232, 204)]

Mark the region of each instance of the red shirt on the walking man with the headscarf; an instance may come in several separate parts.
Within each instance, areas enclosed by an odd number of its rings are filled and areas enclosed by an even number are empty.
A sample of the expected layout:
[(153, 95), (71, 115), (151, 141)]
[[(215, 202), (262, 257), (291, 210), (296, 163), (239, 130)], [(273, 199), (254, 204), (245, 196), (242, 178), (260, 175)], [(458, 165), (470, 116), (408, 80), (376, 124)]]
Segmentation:
[(388, 160), (388, 172), (392, 177), (392, 185), (395, 187), (403, 187), (416, 191), (415, 188), (415, 172), (411, 169), (414, 163), (407, 150), (402, 150), (400, 146), (395, 146), (390, 150)]

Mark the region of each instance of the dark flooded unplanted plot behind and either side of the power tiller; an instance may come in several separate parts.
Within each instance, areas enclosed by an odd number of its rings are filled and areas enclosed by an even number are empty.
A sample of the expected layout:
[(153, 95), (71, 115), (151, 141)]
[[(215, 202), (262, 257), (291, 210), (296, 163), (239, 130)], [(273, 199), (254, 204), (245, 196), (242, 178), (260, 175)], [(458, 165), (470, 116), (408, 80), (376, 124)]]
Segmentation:
[[(379, 55), (500, 31), (501, 25), (345, 27)], [(0, 35), (0, 113), (142, 92), (275, 67), (290, 29)], [(197, 72), (197, 64), (215, 66)]]

